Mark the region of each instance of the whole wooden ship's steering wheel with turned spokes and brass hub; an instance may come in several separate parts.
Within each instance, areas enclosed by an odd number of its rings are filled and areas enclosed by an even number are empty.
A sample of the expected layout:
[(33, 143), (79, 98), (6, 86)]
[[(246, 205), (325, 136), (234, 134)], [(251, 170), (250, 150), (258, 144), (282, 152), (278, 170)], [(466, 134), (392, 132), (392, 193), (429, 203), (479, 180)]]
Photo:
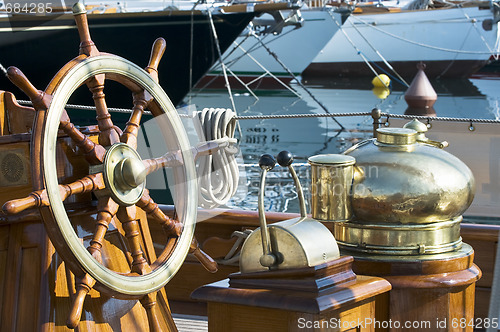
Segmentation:
[[(99, 52), (90, 39), (84, 8), (77, 4), (73, 12), (81, 39), (80, 56), (68, 62), (45, 91), (37, 90), (17, 68), (8, 70), (9, 78), (30, 97), (37, 112), (31, 143), (35, 191), (4, 205), (4, 211), (11, 214), (38, 207), (52, 243), (75, 274), (77, 293), (69, 327), (78, 324), (91, 288), (117, 298), (139, 298), (148, 310), (154, 304), (156, 291), (173, 277), (188, 252), (209, 270), (216, 270), (213, 260), (199, 250), (193, 238), (198, 187), (188, 137), (175, 107), (157, 82), (156, 68), (165, 41), (155, 42), (149, 65), (143, 70), (121, 57)], [(133, 109), (123, 131), (114, 125), (108, 112), (103, 93), (105, 80), (116, 81), (132, 92)], [(95, 103), (97, 142), (75, 127), (65, 111), (70, 96), (84, 84)], [(145, 109), (161, 128), (167, 152), (143, 160), (137, 145)], [(89, 174), (71, 183), (58, 181), (56, 150), (61, 131), (83, 151), (90, 164)], [(175, 187), (171, 190), (175, 202), (172, 219), (158, 208), (145, 188), (146, 175), (160, 169), (170, 172)], [(172, 188), (171, 183), (169, 186)], [(98, 201), (95, 228), (87, 247), (63, 204), (68, 197), (85, 193), (94, 194)], [(169, 236), (162, 253), (152, 262), (143, 252), (137, 207), (158, 221)], [(101, 253), (110, 224), (118, 221), (128, 239), (129, 271), (113, 270)]]

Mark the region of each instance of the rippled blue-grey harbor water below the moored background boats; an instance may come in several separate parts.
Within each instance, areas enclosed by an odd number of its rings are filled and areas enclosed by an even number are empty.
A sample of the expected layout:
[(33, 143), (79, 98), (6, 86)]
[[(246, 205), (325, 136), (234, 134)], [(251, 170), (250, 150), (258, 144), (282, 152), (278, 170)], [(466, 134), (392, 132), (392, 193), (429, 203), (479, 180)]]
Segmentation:
[[(405, 114), (406, 87), (394, 83), (389, 94), (373, 90), (370, 78), (291, 83), (293, 91), (232, 91), (238, 116), (302, 115), (346, 112)], [(477, 75), (463, 80), (432, 80), (438, 99), (436, 116), (476, 119), (500, 119), (500, 75)], [(304, 87), (306, 89), (304, 89)], [(308, 91), (306, 91), (308, 90)], [(233, 108), (227, 90), (196, 90), (185, 100), (202, 110), (206, 107)], [(382, 118), (383, 122), (387, 119)], [(386, 125), (390, 125), (389, 123)], [(296, 171), (306, 198), (309, 197), (310, 167), (307, 158), (317, 154), (341, 153), (353, 144), (372, 137), (371, 116), (356, 117), (291, 117), (273, 119), (241, 119), (237, 137), (240, 144), (240, 182), (237, 194), (227, 208), (256, 210), (260, 169), (259, 157), (276, 156), (282, 150), (294, 155)], [(470, 123), (459, 124), (464, 132)], [(461, 127), (459, 127), (461, 128)], [(432, 130), (432, 129), (431, 129)], [(288, 171), (276, 165), (269, 173), (265, 191), (267, 211), (298, 212), (298, 200)], [(224, 206), (223, 206), (224, 207)]]

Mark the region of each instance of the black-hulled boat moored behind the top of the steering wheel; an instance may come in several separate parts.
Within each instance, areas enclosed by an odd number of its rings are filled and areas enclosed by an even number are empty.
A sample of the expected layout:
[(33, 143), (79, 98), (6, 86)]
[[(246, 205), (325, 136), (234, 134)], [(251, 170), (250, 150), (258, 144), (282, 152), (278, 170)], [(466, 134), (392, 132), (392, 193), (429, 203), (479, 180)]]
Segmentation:
[[(103, 45), (102, 51), (145, 65), (148, 60), (144, 57), (145, 50), (150, 49), (156, 38), (165, 38), (168, 61), (160, 66), (159, 78), (174, 105), (183, 100), (218, 60), (219, 50), (224, 52), (256, 15), (296, 7), (286, 2), (256, 4), (252, 10), (246, 6), (193, 10), (187, 3), (184, 10), (166, 1), (85, 1), (84, 4), (92, 36), (97, 45)], [(73, 49), (61, 48), (74, 44), (78, 36), (72, 14), (64, 8), (51, 7), (50, 12), (12, 16), (8, 8), (0, 7), (0, 64), (5, 68), (20, 68), (38, 89), (49, 82), (46, 73), (56, 73), (67, 59), (75, 56)], [(37, 61), (33, 61), (35, 54)], [(44, 64), (43, 70), (40, 63)], [(0, 86), (18, 91), (3, 75)], [(82, 103), (82, 99), (73, 102)], [(130, 105), (118, 101), (116, 106)]]

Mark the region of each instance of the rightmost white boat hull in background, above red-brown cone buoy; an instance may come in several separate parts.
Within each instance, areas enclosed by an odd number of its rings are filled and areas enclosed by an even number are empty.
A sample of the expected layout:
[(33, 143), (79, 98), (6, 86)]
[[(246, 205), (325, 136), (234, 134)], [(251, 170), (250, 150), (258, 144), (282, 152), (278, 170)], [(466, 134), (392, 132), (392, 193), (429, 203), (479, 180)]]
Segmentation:
[(390, 73), (381, 56), (408, 79), (420, 61), (429, 77), (467, 77), (498, 53), (498, 23), (478, 7), (351, 15), (342, 29), (304, 77), (374, 75), (365, 59)]

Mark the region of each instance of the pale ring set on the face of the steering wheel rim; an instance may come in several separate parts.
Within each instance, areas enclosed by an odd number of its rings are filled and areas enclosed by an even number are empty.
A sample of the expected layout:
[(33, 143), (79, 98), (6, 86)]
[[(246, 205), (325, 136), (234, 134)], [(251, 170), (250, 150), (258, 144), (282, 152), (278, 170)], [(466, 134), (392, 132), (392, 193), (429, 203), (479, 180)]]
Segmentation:
[[(154, 264), (153, 271), (145, 275), (131, 276), (119, 274), (95, 260), (73, 230), (73, 226), (59, 195), (56, 142), (63, 109), (71, 94), (87, 79), (106, 73), (128, 79), (151, 94), (164, 112), (167, 120), (172, 124), (184, 161), (186, 200), (183, 202), (185, 211), (183, 231), (168, 258), (160, 262), (160, 264)], [(47, 117), (44, 122), (42, 157), (45, 188), (50, 202), (50, 209), (58, 227), (58, 235), (64, 241), (62, 245), (68, 246), (74, 259), (78, 261), (79, 266), (85, 273), (91, 275), (104, 288), (133, 297), (157, 291), (174, 276), (186, 258), (194, 234), (197, 209), (197, 181), (194, 160), (190, 153), (189, 141), (182, 122), (166, 93), (148, 73), (130, 61), (114, 55), (89, 57), (75, 64), (57, 82), (56, 88), (52, 93), (52, 101), (47, 110)], [(54, 241), (54, 244), (57, 246), (58, 241)]]

